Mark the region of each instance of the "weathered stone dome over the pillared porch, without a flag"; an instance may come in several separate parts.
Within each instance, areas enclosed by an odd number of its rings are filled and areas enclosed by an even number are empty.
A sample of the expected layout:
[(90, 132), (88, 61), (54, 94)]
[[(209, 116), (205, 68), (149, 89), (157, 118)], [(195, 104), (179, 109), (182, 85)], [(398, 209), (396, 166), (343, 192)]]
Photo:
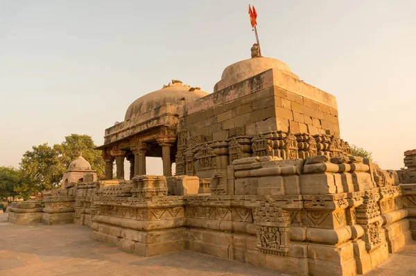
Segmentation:
[(162, 89), (150, 92), (134, 101), (125, 112), (124, 121), (154, 110), (165, 103), (185, 105), (207, 96), (207, 94), (207, 92), (201, 91), (199, 87), (189, 87), (189, 85), (182, 85), (180, 80), (172, 80), (172, 83), (164, 85)]

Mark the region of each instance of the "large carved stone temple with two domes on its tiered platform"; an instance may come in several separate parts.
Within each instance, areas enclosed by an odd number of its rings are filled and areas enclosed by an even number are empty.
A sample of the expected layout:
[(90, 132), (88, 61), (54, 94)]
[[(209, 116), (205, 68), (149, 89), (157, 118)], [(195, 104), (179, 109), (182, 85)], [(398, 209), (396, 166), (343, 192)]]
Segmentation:
[[(416, 234), (416, 150), (402, 171), (352, 156), (334, 96), (252, 57), (211, 94), (172, 80), (138, 98), (97, 148), (105, 178), (13, 202), (10, 221), (78, 223), (146, 257), (186, 249), (291, 275), (381, 264)], [(146, 156), (162, 158), (163, 175), (146, 175)]]

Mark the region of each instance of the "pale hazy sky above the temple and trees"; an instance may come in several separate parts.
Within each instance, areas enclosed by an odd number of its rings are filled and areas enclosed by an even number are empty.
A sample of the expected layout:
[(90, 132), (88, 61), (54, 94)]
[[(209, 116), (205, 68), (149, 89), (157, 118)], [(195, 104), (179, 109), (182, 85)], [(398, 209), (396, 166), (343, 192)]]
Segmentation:
[[(416, 148), (416, 1), (251, 4), (261, 53), (336, 96), (349, 144), (383, 169), (404, 166)], [(103, 144), (130, 103), (172, 79), (212, 92), (254, 42), (241, 0), (0, 0), (0, 166), (71, 133)]]

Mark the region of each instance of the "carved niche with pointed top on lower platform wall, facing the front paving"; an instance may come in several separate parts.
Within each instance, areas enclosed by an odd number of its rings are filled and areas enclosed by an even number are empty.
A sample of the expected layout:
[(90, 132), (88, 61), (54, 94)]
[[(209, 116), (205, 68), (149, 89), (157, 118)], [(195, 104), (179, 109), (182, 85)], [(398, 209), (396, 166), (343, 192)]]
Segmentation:
[(275, 200), (266, 196), (254, 210), (254, 223), (257, 232), (257, 250), (286, 256), (289, 250), (288, 234), (291, 223), (289, 212), (278, 207)]

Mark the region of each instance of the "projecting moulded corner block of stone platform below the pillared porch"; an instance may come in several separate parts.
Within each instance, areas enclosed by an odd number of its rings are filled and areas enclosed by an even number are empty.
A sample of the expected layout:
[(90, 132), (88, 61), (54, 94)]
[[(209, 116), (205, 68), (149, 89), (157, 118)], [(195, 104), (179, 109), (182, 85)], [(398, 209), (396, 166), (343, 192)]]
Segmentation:
[(184, 248), (181, 196), (95, 200), (92, 237), (126, 252), (149, 257)]

